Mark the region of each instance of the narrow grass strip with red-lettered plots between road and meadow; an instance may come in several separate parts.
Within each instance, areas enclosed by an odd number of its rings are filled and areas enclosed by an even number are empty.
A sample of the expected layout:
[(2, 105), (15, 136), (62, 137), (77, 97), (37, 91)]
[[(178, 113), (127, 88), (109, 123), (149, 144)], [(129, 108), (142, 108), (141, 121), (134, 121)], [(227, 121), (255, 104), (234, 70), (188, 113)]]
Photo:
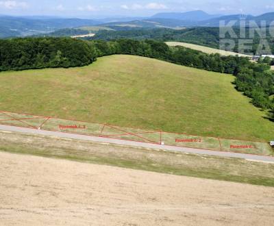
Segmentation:
[[(19, 120), (16, 121), (16, 118), (19, 118)], [(138, 142), (149, 142), (157, 144), (163, 142), (164, 145), (207, 149), (212, 151), (229, 151), (256, 155), (274, 155), (273, 149), (271, 149), (269, 143), (267, 142), (231, 140), (224, 138), (219, 139), (214, 137), (166, 133), (147, 129), (133, 129), (98, 123), (71, 121), (60, 118), (47, 118), (47, 116), (45, 118), (40, 118), (39, 116), (32, 116), (27, 114), (0, 112), (0, 124), (14, 125), (18, 127), (40, 128), (49, 131), (63, 131), (67, 133), (84, 134), (88, 136), (103, 136)]]

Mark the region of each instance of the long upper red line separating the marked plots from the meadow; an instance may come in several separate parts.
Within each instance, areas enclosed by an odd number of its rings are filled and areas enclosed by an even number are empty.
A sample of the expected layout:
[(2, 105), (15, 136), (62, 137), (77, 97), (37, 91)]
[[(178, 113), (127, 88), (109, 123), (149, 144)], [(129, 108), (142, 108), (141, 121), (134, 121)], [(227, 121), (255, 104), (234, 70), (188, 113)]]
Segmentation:
[[(0, 111), (2, 112), (3, 114), (5, 114), (4, 112), (7, 112), (7, 111)], [(25, 113), (18, 113), (18, 112), (7, 112), (7, 113), (12, 113), (12, 114), (23, 114), (23, 115), (30, 115), (30, 116), (38, 116), (38, 115), (35, 115), (35, 114), (25, 114)], [(92, 122), (87, 122), (87, 121), (77, 121), (77, 120), (73, 120), (73, 119), (65, 119), (65, 118), (55, 118), (55, 117), (51, 117), (51, 116), (38, 116), (38, 117), (43, 117), (43, 118), (53, 118), (53, 119), (59, 119), (59, 120), (66, 120), (66, 121), (75, 121), (75, 122), (81, 122), (81, 123), (92, 123)], [(101, 123), (93, 123), (93, 124), (97, 124), (97, 125), (103, 125)], [(110, 125), (110, 124), (108, 124)], [(113, 127), (116, 127), (116, 125), (110, 125), (110, 126), (113, 126)], [(127, 128), (127, 127), (125, 127)], [(141, 129), (141, 128), (127, 128), (127, 129)], [(148, 129), (143, 129), (143, 130), (148, 130)], [(162, 131), (162, 133), (165, 133), (165, 134), (178, 134), (178, 135), (186, 135), (186, 136), (200, 136), (200, 135), (193, 135), (193, 134), (184, 134), (184, 133), (175, 133), (175, 132), (167, 132), (167, 131)], [(243, 139), (235, 139), (235, 138), (217, 138), (217, 137), (214, 137), (214, 136), (202, 136), (203, 138), (216, 138), (216, 139), (224, 139), (224, 140), (238, 140), (238, 141), (248, 141), (248, 142), (260, 142), (260, 143), (268, 143), (266, 141), (256, 141), (256, 140), (243, 140)]]

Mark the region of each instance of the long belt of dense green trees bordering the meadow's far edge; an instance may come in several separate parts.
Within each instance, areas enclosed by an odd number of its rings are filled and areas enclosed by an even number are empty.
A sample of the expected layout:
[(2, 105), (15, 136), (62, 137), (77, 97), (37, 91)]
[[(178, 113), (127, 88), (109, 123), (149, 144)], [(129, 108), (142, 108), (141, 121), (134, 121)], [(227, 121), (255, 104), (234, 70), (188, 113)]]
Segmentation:
[(238, 56), (208, 55), (185, 47), (169, 47), (157, 40), (75, 40), (72, 38), (16, 38), (0, 40), (0, 71), (84, 66), (112, 54), (140, 55), (175, 64), (229, 73), (237, 90), (251, 97), (274, 119), (274, 72), (269, 64), (254, 64)]

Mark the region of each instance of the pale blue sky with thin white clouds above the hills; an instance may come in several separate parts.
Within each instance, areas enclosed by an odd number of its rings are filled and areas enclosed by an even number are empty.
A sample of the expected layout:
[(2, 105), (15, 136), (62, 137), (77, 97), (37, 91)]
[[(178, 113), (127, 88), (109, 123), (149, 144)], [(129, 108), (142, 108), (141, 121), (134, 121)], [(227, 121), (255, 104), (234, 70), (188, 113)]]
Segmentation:
[(157, 12), (203, 10), (210, 14), (263, 14), (274, 12), (273, 0), (0, 0), (0, 14), (101, 18), (105, 16), (151, 16)]

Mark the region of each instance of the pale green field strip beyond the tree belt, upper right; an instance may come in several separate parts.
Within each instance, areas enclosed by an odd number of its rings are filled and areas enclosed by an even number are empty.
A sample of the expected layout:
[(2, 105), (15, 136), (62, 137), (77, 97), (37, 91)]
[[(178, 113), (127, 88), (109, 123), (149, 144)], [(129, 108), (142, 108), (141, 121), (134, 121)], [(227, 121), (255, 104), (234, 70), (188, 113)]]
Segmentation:
[(208, 54), (219, 53), (220, 55), (239, 55), (239, 56), (247, 57), (247, 58), (251, 57), (250, 55), (234, 53), (234, 52), (225, 51), (225, 50), (221, 50), (221, 49), (213, 49), (210, 47), (203, 47), (202, 45), (194, 45), (194, 44), (190, 44), (190, 43), (186, 43), (186, 42), (166, 42), (166, 45), (169, 45), (171, 47), (182, 46), (182, 47), (186, 47), (189, 49), (195, 49), (198, 51), (202, 51), (203, 53), (208, 53)]

